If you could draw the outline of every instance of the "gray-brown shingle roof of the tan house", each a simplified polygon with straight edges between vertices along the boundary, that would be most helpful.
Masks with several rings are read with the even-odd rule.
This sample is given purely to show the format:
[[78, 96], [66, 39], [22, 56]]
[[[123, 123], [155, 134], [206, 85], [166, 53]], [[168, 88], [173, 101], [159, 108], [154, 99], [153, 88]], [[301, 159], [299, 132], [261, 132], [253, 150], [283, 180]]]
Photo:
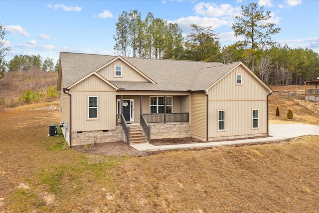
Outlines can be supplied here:
[[[62, 77], [68, 87], [117, 56], [83, 53], [60, 53]], [[222, 64], [215, 62], [184, 61], [123, 57], [157, 84], [148, 82], [111, 81], [125, 90], [187, 91], [205, 90], [240, 62]]]

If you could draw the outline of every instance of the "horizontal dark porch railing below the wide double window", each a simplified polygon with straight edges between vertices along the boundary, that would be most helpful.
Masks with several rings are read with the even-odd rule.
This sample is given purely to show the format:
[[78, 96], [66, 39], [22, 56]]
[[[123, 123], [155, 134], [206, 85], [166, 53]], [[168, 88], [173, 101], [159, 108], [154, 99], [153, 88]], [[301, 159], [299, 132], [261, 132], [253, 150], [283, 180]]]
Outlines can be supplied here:
[[148, 123], [189, 122], [189, 113], [143, 114]]

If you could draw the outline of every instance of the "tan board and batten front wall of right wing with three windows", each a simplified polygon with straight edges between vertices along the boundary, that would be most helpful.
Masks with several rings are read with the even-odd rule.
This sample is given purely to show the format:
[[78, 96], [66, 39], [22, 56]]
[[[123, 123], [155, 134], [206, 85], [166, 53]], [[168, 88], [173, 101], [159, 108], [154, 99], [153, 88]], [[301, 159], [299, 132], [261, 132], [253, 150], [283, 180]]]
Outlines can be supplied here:
[[[242, 84], [236, 84], [237, 74]], [[267, 134], [269, 91], [241, 66], [224, 76], [208, 92], [208, 137]], [[252, 110], [259, 111], [259, 128], [252, 128]], [[225, 130], [218, 130], [218, 110], [225, 110]]]

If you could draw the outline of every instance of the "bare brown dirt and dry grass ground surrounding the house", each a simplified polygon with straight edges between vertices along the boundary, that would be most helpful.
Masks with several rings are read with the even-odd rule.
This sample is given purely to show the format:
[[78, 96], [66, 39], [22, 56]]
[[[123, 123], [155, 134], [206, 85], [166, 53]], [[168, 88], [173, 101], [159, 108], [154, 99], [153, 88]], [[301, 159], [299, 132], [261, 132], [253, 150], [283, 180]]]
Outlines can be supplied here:
[[[317, 103], [308, 104], [270, 97], [271, 122], [319, 125]], [[60, 133], [48, 137], [58, 109], [53, 102], [0, 110], [0, 213], [319, 212], [317, 136], [155, 153], [118, 142], [79, 152]], [[181, 140], [165, 143], [193, 142]]]

